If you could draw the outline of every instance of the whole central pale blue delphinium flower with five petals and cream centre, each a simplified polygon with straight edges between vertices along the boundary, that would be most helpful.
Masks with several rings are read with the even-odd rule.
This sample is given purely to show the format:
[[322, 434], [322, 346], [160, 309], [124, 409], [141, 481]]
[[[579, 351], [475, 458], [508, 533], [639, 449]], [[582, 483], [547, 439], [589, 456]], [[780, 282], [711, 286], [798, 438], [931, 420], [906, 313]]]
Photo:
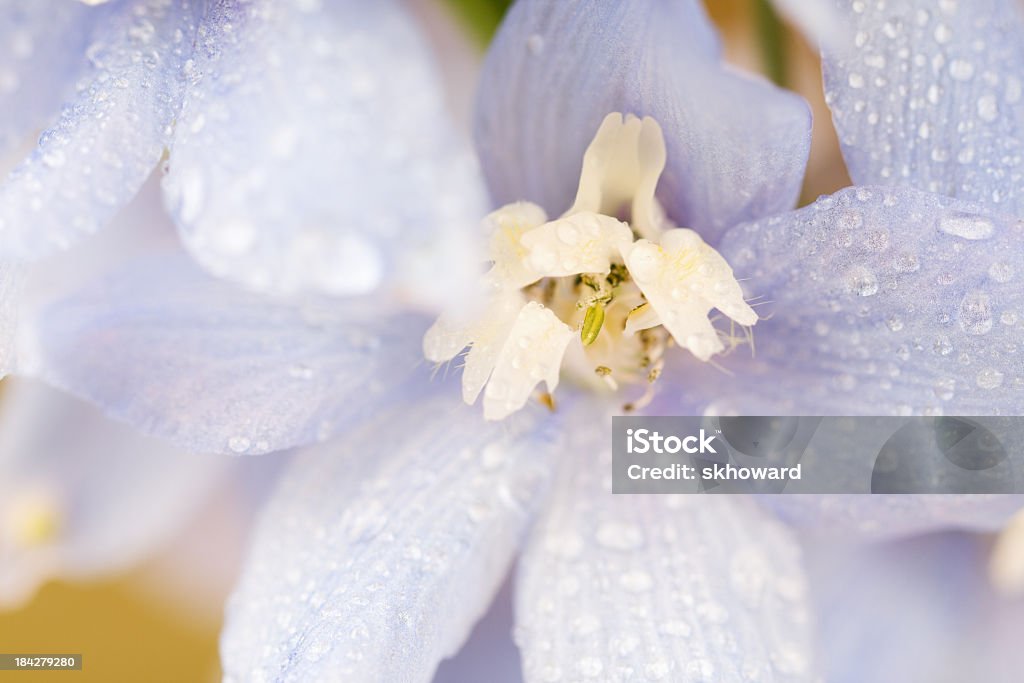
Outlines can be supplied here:
[[[217, 35], [215, 48], [225, 42], [223, 32]], [[529, 279], [566, 279], [556, 283], [554, 298], [542, 292], [535, 303], [566, 304], [559, 324], [581, 325], [584, 357], [585, 344], [626, 349], [611, 354], [611, 365], [591, 367], [590, 358], [583, 366], [581, 374], [591, 383], [597, 378], [601, 392], [612, 389], [606, 380], [630, 375], [624, 370], [647, 383], [656, 358], [635, 366], [620, 360], [635, 353], [633, 344], [654, 351], [643, 342], [653, 335], [660, 346], [671, 339], [681, 348], [664, 356], [650, 411], [1016, 410], [1012, 383], [937, 393], [935, 380], [956, 358], [926, 355], [914, 342], [941, 329], [969, 359], [982, 352], [989, 362], [1012, 362], [1010, 326], [996, 328], [992, 316], [1014, 305], [1016, 290], [1012, 280], [989, 286], [986, 279], [992, 250], [1012, 244], [1015, 219], [895, 186], [852, 188], [771, 216], [792, 206], [799, 188], [806, 108], [723, 68], [696, 5], [582, 9], [520, 2], [492, 48], [483, 84], [477, 142], [492, 194], [499, 204], [540, 207], [518, 205], [488, 223], [511, 228], [513, 238], [521, 231], [525, 250], [523, 258], [503, 261], [502, 248], [516, 255], [516, 241], [499, 240], [493, 279], [528, 286], [532, 280], [514, 272], [527, 266]], [[230, 94], [213, 89], [206, 96], [213, 103], [218, 96], [231, 101]], [[601, 182], [601, 197], [588, 199], [593, 185], [586, 182], [584, 150], [614, 112], [652, 122], [611, 119], [610, 126], [621, 122], [656, 137], [656, 122], [664, 132], [659, 204], [649, 191], [658, 164], [636, 165], [643, 182], [634, 176], [632, 184], [609, 183], [609, 190], [630, 188], [621, 198], [629, 205], [623, 213], [605, 206]], [[631, 160], [659, 156], [647, 156], [656, 147], [640, 154], [641, 147], [626, 146], [628, 154], [612, 156], [615, 163], [604, 169], [609, 176], [630, 175]], [[602, 148], [599, 138], [592, 151], [600, 157]], [[173, 151], [170, 165], [169, 178], [176, 173]], [[582, 204], [572, 202], [578, 186]], [[640, 211], [627, 202], [636, 198]], [[551, 216], [570, 213], [550, 223], [542, 209]], [[230, 224], [215, 215], [215, 225]], [[589, 222], [578, 224], [584, 218]], [[527, 225], [529, 231], [520, 230]], [[589, 273], [549, 262], [540, 249], [555, 246], [550, 238], [560, 239], [565, 225], [610, 234], [595, 241], [603, 256], [591, 271], [603, 278], [590, 279], [595, 287], [584, 282]], [[938, 230], [941, 225], [948, 229]], [[975, 229], [979, 225], [988, 227]], [[970, 239], [979, 232], [986, 239]], [[692, 282], [718, 296], [676, 297], [657, 278], [648, 285], [642, 265], [629, 267], [645, 252], [655, 260], [683, 256], [679, 269], [659, 271], [676, 280], [690, 274], [687, 258], [694, 258]], [[637, 325], [632, 337], [623, 334], [624, 313], [634, 307], [629, 298], [602, 291], [627, 283], [618, 280], [625, 273], [614, 274], [618, 265], [638, 290], [628, 292], [640, 306], [635, 315], [644, 315], [643, 295], [665, 332], [646, 327], [655, 322], [646, 318], [644, 327], [654, 333], [644, 335]], [[741, 325], [756, 322], [730, 268], [735, 278], [750, 279], [743, 283], [749, 296], [771, 302], [771, 317], [766, 311], [755, 328], [757, 356], [744, 357], [739, 348], [720, 361], [732, 376], [706, 362], [728, 347], [706, 327], [712, 306]], [[264, 274], [249, 284], [264, 283]], [[574, 274], [596, 298], [581, 299]], [[572, 295], [559, 299], [559, 286], [573, 288]], [[678, 312], [679, 299], [694, 309], [676, 317], [677, 328], [670, 313]], [[609, 315], [616, 303], [629, 310]], [[598, 326], [600, 313], [590, 311], [601, 304], [605, 321]], [[477, 315], [497, 306], [486, 298], [482, 305], [464, 315], [474, 329], [461, 335], [462, 343], [479, 340]], [[539, 308], [527, 303], [516, 317], [525, 310]], [[435, 332], [447, 328], [440, 325]], [[426, 327], [385, 295], [295, 305], [217, 283], [174, 257], [105, 279], [39, 322], [46, 377], [196, 450], [261, 453], [344, 434], [300, 454], [264, 511], [228, 609], [222, 646], [229, 676], [427, 678], [459, 647], [520, 552], [517, 642], [529, 680], [813, 676], [811, 605], [784, 526], [741, 497], [612, 497], [605, 480], [607, 416], [623, 402], [635, 405], [635, 394], [627, 387], [612, 396], [592, 387], [560, 390], [554, 415], [528, 404], [488, 424], [460, 405], [451, 382], [431, 383], [426, 369], [414, 371]], [[549, 329], [565, 339], [563, 328], [552, 322]], [[1002, 344], [994, 356], [979, 343], [984, 335]], [[636, 337], [639, 342], [631, 341]], [[724, 336], [734, 339], [731, 330]], [[504, 349], [492, 385], [501, 368], [517, 387], [555, 383], [550, 367], [534, 377], [514, 358], [502, 365]], [[555, 355], [561, 359], [544, 354], [548, 366]], [[611, 372], [594, 372], [600, 368]], [[492, 398], [499, 401], [492, 403], [493, 418], [526, 402], [520, 396], [509, 404], [500, 392]], [[486, 399], [485, 393], [485, 412]], [[356, 420], [365, 424], [355, 427]], [[844, 529], [870, 533], [873, 525], [898, 535], [936, 524], [995, 528], [1019, 506], [1012, 498], [871, 499], [820, 506], [817, 514]], [[856, 514], [852, 524], [844, 513]]]

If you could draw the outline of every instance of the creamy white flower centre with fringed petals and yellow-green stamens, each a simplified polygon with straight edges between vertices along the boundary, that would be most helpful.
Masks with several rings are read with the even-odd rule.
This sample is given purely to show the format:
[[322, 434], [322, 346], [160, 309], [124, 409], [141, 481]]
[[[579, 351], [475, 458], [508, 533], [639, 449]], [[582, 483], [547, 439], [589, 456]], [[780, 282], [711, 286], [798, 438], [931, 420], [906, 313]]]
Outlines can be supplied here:
[[[483, 391], [486, 419], [521, 409], [542, 381], [553, 407], [563, 369], [597, 390], [644, 384], [624, 407], [642, 408], [670, 346], [708, 361], [737, 344], [709, 318], [713, 308], [743, 327], [757, 323], [725, 259], [665, 217], [654, 198], [665, 161], [653, 119], [609, 114], [562, 217], [549, 221], [526, 202], [486, 217], [484, 309], [471, 319], [442, 315], [423, 340], [434, 362], [469, 347], [463, 398], [473, 403]], [[616, 218], [626, 214], [629, 222]]]

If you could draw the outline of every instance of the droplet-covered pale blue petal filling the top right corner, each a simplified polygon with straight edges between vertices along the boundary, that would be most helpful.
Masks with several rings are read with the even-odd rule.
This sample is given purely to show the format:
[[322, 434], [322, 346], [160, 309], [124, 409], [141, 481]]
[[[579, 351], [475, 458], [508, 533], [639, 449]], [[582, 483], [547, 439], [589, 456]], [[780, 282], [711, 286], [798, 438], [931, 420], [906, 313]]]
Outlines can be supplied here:
[[843, 2], [825, 98], [854, 182], [1024, 215], [1024, 14], [1017, 0]]

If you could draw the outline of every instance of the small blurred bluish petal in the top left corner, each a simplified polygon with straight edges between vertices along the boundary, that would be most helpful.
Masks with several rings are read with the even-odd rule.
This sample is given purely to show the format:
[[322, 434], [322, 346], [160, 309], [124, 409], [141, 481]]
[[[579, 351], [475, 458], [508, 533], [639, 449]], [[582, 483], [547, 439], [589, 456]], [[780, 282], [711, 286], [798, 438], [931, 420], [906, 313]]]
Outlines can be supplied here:
[[0, 2], [0, 160], [57, 112], [74, 84], [92, 20], [80, 2]]

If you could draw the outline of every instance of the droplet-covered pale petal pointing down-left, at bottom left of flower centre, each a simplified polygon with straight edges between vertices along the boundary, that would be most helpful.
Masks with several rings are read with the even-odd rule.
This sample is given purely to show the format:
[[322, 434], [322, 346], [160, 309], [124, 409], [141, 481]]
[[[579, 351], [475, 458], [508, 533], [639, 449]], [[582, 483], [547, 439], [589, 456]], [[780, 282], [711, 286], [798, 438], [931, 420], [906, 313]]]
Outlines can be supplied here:
[[542, 500], [555, 430], [535, 418], [487, 425], [442, 387], [303, 454], [228, 603], [228, 679], [429, 680]]

